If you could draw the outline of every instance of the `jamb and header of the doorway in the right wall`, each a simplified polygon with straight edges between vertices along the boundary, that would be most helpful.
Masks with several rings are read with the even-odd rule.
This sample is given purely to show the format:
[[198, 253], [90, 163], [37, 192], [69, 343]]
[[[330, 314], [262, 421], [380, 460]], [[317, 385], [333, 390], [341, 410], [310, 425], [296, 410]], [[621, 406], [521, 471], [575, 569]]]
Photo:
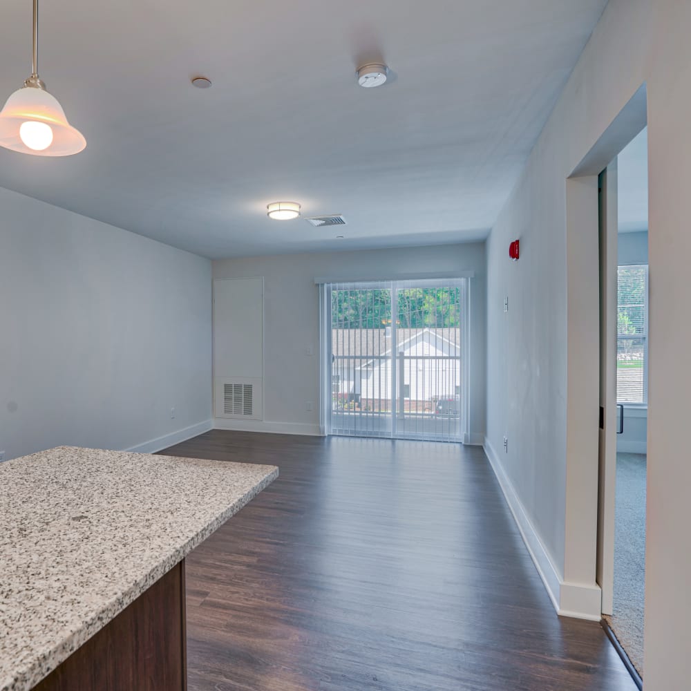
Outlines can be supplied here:
[[647, 122], [645, 84], [567, 178], [567, 436], [562, 614], [599, 620], [596, 582], [599, 498], [600, 338], [598, 175]]

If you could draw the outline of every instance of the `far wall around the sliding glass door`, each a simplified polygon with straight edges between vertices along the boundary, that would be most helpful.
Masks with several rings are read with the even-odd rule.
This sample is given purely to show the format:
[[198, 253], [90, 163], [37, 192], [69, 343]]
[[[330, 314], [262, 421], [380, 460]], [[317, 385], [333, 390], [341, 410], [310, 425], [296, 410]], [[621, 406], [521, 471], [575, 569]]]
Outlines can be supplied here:
[[[372, 279], [474, 271], [471, 279], [471, 440], [485, 429], [484, 243], [363, 252], [286, 254], [214, 261], [214, 278], [264, 277], [263, 424], [244, 428], [319, 433], [319, 289], [315, 277]], [[312, 356], [306, 354], [312, 346]], [[311, 412], [305, 401], [313, 401]], [[229, 421], [216, 421], [233, 428]], [[236, 428], [237, 426], [235, 426]]]

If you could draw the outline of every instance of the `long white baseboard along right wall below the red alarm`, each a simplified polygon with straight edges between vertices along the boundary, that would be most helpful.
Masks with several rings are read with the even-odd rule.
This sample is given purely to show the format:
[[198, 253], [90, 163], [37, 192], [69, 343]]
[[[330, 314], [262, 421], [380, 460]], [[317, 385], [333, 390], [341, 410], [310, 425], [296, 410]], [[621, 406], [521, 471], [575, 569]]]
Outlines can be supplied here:
[[538, 574], [540, 574], [540, 578], [542, 579], [542, 583], [545, 585], [545, 589], [547, 589], [549, 599], [552, 601], [554, 609], [559, 614], [562, 585], [561, 576], [556, 567], [553, 565], [552, 560], [549, 557], [549, 553], [547, 553], [547, 549], [545, 549], [545, 545], [542, 545], [542, 540], [540, 540], [538, 533], [536, 533], [535, 529], [533, 528], [533, 524], [530, 522], [530, 519], [523, 508], [523, 504], [521, 504], [520, 500], [518, 499], [518, 495], [515, 493], [513, 485], [511, 484], [509, 477], [507, 477], [507, 474], [504, 472], [504, 467], [502, 466], [491, 442], [489, 439], [487, 439], [487, 437], [484, 439], [483, 446], [484, 453], [489, 459], [489, 464], [492, 466], [492, 470], [497, 476], [499, 485], [502, 488], [504, 498], [507, 500], [507, 504], [509, 504], [509, 509], [511, 509], [513, 519], [518, 526], [518, 531], [520, 531], [523, 542], [525, 542], [528, 553], [533, 560], [533, 564], [535, 564]]

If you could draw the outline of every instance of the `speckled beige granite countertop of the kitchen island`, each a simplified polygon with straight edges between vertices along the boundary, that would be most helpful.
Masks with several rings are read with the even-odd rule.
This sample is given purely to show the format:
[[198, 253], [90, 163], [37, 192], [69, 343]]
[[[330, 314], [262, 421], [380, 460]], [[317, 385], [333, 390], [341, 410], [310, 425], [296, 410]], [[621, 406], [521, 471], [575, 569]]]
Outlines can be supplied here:
[[32, 688], [276, 477], [70, 446], [0, 464], [0, 691]]

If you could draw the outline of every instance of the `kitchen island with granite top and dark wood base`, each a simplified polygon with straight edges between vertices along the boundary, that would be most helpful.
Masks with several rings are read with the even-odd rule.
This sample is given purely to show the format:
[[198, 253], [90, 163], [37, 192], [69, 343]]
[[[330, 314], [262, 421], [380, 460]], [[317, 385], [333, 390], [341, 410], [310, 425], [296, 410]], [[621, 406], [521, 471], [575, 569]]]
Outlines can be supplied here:
[[0, 691], [184, 690], [184, 557], [276, 477], [70, 446], [0, 464]]

